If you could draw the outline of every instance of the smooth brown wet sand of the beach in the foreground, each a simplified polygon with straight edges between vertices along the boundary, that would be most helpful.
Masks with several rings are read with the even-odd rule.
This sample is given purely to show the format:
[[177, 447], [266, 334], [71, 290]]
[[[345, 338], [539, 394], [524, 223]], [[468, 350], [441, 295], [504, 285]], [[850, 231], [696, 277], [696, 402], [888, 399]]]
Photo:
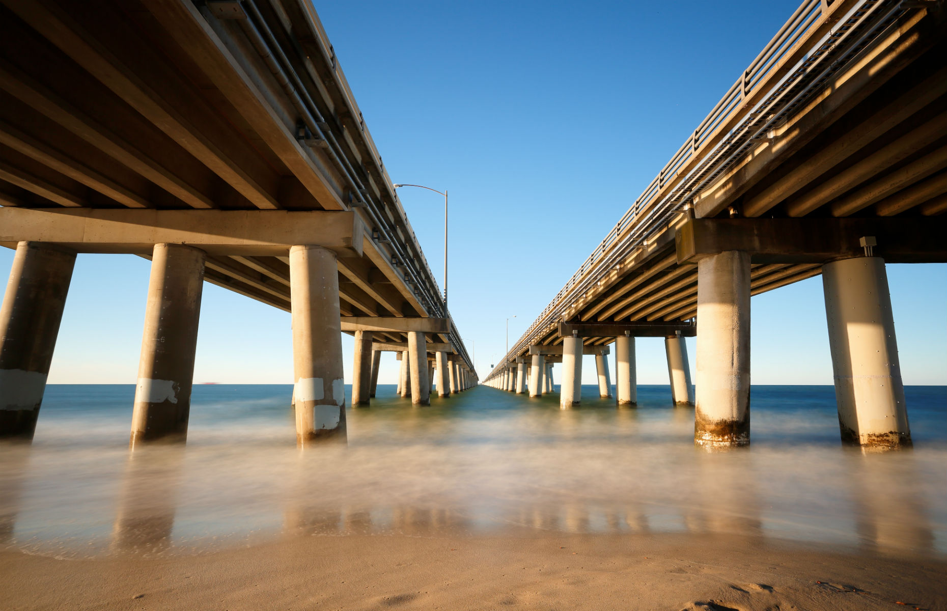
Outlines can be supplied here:
[[694, 534], [302, 535], [83, 560], [0, 551], [4, 609], [947, 609], [947, 563]]

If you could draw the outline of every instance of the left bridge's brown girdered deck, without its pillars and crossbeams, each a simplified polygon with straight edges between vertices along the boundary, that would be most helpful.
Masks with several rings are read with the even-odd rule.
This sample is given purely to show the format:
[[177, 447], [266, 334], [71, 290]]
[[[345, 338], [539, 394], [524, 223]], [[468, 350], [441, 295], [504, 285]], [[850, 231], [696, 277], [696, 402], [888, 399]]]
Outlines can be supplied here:
[[[306, 0], [4, 0], [0, 204], [352, 210], [343, 316], [449, 316]], [[205, 279], [290, 309], [288, 248], [210, 253]], [[436, 341], [470, 363], [456, 333]]]

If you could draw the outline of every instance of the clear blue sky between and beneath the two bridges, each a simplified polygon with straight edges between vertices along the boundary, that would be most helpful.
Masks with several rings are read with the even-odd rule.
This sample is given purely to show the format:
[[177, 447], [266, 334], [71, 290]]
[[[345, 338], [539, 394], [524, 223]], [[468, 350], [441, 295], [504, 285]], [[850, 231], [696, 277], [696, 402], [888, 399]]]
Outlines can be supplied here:
[[[450, 191], [451, 312], [481, 374], [505, 319], [512, 343], [797, 5], [315, 2], [392, 180]], [[441, 281], [442, 200], [400, 194]], [[149, 266], [80, 255], [50, 383], [134, 384]], [[947, 265], [888, 278], [904, 383], [947, 384]], [[753, 297], [751, 318], [755, 384], [831, 384], [821, 278]], [[638, 340], [637, 365], [667, 384], [661, 339]], [[387, 354], [380, 382], [396, 373]], [[289, 314], [205, 284], [195, 382], [292, 376]]]

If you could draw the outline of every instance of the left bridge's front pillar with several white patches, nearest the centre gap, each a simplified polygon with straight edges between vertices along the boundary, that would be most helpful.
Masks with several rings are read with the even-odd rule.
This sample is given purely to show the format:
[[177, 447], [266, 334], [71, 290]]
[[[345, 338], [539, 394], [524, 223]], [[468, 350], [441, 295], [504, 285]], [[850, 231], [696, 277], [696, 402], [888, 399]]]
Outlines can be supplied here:
[[296, 445], [346, 440], [346, 394], [335, 253], [290, 248]]

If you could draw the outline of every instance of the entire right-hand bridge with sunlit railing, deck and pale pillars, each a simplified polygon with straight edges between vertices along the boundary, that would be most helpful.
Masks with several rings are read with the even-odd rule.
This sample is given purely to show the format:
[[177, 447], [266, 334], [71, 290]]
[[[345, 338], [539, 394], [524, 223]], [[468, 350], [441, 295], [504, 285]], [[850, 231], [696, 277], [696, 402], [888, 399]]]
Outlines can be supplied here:
[[803, 2], [485, 384], [542, 395], [561, 355], [567, 409], [595, 353], [610, 397], [612, 345], [616, 403], [634, 404], [634, 338], [664, 336], [695, 442], [745, 445], [750, 297], [821, 274], [842, 439], [910, 445], [884, 265], [947, 261], [944, 10]]

